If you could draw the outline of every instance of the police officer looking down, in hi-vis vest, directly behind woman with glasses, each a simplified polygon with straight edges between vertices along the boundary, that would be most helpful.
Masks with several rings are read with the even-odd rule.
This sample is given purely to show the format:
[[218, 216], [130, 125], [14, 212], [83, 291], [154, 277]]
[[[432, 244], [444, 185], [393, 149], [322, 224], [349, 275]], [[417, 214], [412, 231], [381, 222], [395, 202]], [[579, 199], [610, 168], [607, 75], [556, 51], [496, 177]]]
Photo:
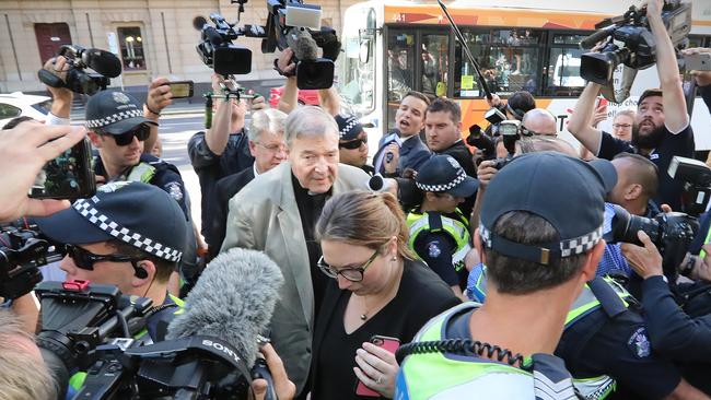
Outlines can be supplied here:
[[458, 204], [471, 197], [478, 181], [451, 155], [433, 155], [415, 178], [422, 203], [407, 215], [408, 246], [463, 297], [468, 275], [464, 258], [471, 250], [468, 219]]

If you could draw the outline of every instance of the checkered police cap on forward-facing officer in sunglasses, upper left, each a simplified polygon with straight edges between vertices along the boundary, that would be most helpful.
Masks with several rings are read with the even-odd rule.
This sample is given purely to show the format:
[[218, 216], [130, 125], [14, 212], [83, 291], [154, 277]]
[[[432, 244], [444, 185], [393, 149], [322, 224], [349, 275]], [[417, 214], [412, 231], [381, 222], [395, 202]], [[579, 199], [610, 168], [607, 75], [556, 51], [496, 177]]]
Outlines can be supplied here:
[[101, 91], [86, 103], [86, 129], [121, 134], [141, 123], [155, 125], [143, 117], [143, 106], [128, 93]]

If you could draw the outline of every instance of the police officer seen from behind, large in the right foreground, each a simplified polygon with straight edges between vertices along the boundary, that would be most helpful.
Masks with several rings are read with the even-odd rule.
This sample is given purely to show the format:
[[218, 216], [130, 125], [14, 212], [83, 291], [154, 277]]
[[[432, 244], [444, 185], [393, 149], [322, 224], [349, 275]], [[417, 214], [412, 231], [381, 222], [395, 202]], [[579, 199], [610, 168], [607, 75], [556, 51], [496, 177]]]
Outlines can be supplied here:
[[605, 193], [615, 180], [609, 162], [552, 152], [502, 168], [483, 197], [474, 240], [488, 267], [487, 302], [451, 308], [398, 350], [406, 357], [395, 398], [575, 398], [552, 353], [604, 251]]

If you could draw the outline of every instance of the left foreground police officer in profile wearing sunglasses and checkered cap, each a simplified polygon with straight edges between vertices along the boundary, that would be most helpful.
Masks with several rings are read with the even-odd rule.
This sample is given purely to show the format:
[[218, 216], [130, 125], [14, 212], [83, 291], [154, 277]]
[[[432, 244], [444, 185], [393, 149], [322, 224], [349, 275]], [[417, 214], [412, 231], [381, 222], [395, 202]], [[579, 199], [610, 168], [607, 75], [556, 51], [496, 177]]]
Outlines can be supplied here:
[[[67, 281], [116, 285], [121, 293], [148, 297], [153, 314], [135, 339], [164, 339], [183, 302], [167, 292], [168, 278], [180, 260], [188, 227], [177, 203], [164, 191], [136, 181], [103, 185], [96, 195], [71, 208], [38, 219], [39, 230], [66, 245], [60, 268]], [[72, 377], [73, 389], [83, 374]]]

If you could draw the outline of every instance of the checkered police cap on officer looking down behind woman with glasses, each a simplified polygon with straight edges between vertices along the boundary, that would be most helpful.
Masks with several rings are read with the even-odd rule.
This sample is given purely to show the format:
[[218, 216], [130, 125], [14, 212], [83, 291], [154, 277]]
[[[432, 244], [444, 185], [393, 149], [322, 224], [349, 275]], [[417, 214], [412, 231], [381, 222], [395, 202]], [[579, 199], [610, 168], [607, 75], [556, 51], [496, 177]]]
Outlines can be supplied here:
[[438, 154], [422, 164], [415, 185], [423, 191], [468, 198], [477, 191], [479, 181], [468, 176], [451, 155]]

